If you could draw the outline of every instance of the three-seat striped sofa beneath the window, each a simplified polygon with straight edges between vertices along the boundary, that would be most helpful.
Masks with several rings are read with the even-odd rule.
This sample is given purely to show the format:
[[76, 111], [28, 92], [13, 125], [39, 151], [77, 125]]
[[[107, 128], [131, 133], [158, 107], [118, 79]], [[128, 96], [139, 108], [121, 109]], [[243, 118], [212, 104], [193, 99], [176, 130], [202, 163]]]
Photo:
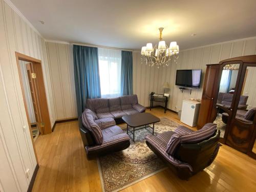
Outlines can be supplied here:
[[111, 99], [87, 99], [87, 109], [94, 112], [95, 119], [113, 118], [122, 122], [122, 116], [145, 112], [146, 108], [138, 103], [137, 95], [126, 95]]

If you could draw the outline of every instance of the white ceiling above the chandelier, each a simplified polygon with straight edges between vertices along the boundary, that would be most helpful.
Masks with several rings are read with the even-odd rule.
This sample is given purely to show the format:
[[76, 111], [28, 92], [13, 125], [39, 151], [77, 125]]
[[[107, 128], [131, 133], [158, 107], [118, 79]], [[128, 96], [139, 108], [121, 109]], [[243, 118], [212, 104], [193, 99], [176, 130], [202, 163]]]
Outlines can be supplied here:
[[[256, 36], [255, 0], [11, 0], [46, 39], [140, 49], [180, 49]], [[43, 20], [42, 25], [39, 20]], [[197, 34], [191, 36], [191, 34]]]

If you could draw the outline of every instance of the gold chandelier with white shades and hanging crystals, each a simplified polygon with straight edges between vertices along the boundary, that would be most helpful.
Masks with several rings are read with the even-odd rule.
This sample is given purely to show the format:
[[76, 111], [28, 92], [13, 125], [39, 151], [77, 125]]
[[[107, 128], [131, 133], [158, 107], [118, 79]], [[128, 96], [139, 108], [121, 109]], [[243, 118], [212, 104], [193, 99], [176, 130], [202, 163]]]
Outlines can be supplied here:
[[153, 48], [152, 43], [149, 42], [146, 44], [146, 46], [141, 48], [141, 62], [144, 61], [146, 65], [157, 66], [157, 68], [161, 66], [168, 66], [172, 57], [177, 63], [179, 58], [179, 46], [177, 45], [176, 41], [172, 41], [168, 47], [162, 38], [162, 31], [163, 28], [159, 28], [160, 38], [158, 47], [155, 45]]

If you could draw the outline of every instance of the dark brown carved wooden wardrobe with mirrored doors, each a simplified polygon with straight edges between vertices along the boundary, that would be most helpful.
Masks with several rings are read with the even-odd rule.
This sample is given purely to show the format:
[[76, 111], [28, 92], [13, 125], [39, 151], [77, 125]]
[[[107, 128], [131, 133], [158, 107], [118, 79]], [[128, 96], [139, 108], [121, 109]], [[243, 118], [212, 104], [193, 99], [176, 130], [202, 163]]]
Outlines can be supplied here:
[[198, 129], [214, 122], [220, 141], [256, 158], [256, 55], [207, 65]]

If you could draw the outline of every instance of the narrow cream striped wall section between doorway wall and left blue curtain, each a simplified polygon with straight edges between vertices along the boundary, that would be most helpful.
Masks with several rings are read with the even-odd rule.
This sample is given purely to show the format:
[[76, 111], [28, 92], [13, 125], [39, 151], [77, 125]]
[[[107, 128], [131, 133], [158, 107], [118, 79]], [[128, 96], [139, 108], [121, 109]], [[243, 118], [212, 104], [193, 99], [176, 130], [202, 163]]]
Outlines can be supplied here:
[[56, 119], [77, 117], [72, 46], [46, 42], [46, 48]]

